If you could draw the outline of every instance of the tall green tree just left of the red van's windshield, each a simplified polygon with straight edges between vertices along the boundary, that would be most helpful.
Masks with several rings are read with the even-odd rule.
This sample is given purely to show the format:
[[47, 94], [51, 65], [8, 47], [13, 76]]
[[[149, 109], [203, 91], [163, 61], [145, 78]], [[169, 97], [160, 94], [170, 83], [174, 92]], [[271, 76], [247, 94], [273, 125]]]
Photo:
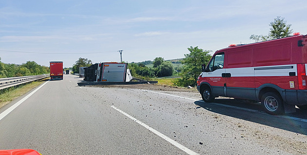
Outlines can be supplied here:
[[199, 49], [198, 46], [188, 48], [190, 54], [185, 54], [182, 64], [185, 64], [182, 70], [181, 78], [175, 82], [178, 86], [195, 86], [197, 78], [201, 73], [201, 65], [208, 64], [212, 52], [211, 50]]

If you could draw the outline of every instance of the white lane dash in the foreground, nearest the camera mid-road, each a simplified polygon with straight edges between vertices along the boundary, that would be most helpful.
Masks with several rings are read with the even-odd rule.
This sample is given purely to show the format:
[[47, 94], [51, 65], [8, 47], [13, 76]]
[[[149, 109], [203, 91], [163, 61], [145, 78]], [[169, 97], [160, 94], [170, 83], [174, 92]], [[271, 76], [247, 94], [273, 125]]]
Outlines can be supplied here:
[[162, 133], [154, 130], [153, 128], [149, 127], [148, 125], [146, 125], [145, 123], [137, 120], [136, 118], [134, 118], [133, 116], [128, 115], [127, 113], [121, 111], [120, 109], [116, 108], [115, 106], [111, 106], [112, 108], [114, 108], [115, 110], [117, 110], [118, 112], [120, 112], [121, 114], [129, 117], [130, 119], [134, 120], [135, 122], [137, 122], [138, 124], [142, 125], [143, 127], [145, 127], [146, 129], [148, 129], [149, 131], [153, 132], [155, 135], [160, 136], [161, 138], [163, 138], [164, 140], [170, 142], [171, 144], [173, 144], [174, 146], [176, 146], [177, 148], [179, 148], [180, 150], [186, 152], [189, 155], [199, 155], [197, 153], [195, 153], [194, 151], [190, 150], [189, 148], [179, 144], [178, 142], [174, 141], [173, 139], [169, 138], [168, 136], [163, 135]]

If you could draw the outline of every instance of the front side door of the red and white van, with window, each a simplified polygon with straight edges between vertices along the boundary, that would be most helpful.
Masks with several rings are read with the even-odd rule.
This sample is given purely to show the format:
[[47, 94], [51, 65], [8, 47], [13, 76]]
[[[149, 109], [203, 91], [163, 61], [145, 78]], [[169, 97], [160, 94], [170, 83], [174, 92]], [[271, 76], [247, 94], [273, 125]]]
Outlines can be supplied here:
[[214, 96], [225, 96], [226, 93], [224, 55], [224, 52], [214, 55], [206, 68], [206, 77]]

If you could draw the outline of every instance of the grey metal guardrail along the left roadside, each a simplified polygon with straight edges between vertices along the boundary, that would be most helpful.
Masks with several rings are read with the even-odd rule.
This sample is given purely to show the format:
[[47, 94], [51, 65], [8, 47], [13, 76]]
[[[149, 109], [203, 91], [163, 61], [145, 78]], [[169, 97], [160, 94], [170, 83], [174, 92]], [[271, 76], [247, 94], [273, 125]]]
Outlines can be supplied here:
[[30, 81], [42, 79], [45, 77], [49, 77], [49, 74], [43, 74], [38, 76], [24, 76], [24, 77], [7, 77], [7, 78], [0, 78], [0, 90], [17, 86], [19, 84], [27, 83]]

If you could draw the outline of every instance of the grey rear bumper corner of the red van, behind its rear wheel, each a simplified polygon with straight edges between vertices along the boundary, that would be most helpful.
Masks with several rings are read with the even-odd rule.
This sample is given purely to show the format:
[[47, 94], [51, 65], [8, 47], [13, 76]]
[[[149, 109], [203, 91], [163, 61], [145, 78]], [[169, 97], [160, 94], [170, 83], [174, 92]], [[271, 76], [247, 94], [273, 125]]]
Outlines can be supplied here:
[[286, 90], [286, 102], [294, 105], [307, 105], [307, 90]]

